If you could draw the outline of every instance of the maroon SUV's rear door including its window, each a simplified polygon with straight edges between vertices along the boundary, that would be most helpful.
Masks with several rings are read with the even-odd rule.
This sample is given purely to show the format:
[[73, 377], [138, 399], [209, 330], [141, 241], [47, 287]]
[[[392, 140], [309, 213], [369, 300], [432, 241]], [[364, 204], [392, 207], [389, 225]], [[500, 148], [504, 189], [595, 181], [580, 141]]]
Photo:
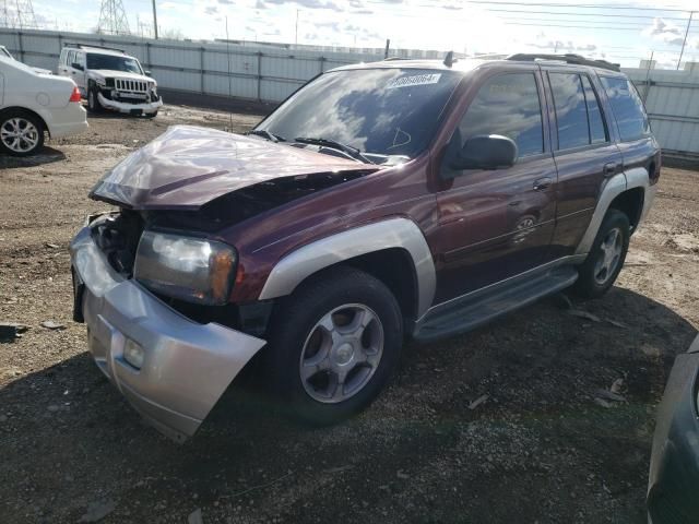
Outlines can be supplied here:
[[552, 108], [552, 143], [558, 168], [556, 233], [552, 255], [573, 254], [605, 179], [624, 170], [607, 129], [597, 78], [570, 68], [543, 67]]

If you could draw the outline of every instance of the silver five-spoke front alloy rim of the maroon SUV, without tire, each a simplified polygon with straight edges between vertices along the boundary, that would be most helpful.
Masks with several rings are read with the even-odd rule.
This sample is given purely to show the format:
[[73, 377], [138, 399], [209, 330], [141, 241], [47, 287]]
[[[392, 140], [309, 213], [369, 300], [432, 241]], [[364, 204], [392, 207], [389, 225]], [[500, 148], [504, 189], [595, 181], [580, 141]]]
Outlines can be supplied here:
[[362, 303], [347, 303], [325, 313], [310, 331], [299, 360], [308, 395], [337, 404], [362, 391], [383, 355], [383, 325]]

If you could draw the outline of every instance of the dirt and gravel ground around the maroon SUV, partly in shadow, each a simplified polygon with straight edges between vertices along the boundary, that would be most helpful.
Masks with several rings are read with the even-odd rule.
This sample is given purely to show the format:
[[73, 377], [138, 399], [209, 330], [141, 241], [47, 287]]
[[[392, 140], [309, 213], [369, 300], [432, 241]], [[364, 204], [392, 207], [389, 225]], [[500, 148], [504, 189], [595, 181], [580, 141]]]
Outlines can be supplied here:
[[[240, 388], [181, 446], [142, 424], [71, 321], [68, 242], [104, 207], [86, 198], [94, 182], [167, 126], [258, 120], [168, 106], [154, 120], [91, 118], [33, 160], [0, 157], [0, 321], [28, 326], [0, 344], [0, 521], [644, 523], [654, 409], [699, 326], [687, 170], [663, 170], [606, 297], [572, 311], [554, 297], [410, 344], [388, 390], [344, 425], [293, 426]], [[599, 398], [613, 384], [625, 402]]]

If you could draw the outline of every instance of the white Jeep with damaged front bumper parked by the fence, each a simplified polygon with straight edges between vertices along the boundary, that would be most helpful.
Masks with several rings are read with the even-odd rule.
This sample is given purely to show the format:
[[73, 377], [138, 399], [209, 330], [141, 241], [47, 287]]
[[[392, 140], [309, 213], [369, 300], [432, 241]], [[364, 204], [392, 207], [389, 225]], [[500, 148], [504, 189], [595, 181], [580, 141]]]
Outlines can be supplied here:
[[153, 118], [163, 105], [157, 82], [137, 58], [120, 49], [67, 44], [58, 74], [73, 79], [93, 114], [110, 109]]

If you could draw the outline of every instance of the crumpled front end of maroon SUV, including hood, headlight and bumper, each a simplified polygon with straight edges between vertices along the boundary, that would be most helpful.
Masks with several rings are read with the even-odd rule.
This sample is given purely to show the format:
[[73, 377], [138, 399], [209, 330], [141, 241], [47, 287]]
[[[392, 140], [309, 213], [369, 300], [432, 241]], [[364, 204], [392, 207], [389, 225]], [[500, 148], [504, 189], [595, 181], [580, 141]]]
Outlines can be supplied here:
[[120, 211], [70, 247], [74, 317], [99, 369], [157, 429], [192, 436], [264, 346], [272, 306], [229, 301], [238, 252], [216, 234], [374, 170], [199, 128], [133, 153], [91, 193]]

